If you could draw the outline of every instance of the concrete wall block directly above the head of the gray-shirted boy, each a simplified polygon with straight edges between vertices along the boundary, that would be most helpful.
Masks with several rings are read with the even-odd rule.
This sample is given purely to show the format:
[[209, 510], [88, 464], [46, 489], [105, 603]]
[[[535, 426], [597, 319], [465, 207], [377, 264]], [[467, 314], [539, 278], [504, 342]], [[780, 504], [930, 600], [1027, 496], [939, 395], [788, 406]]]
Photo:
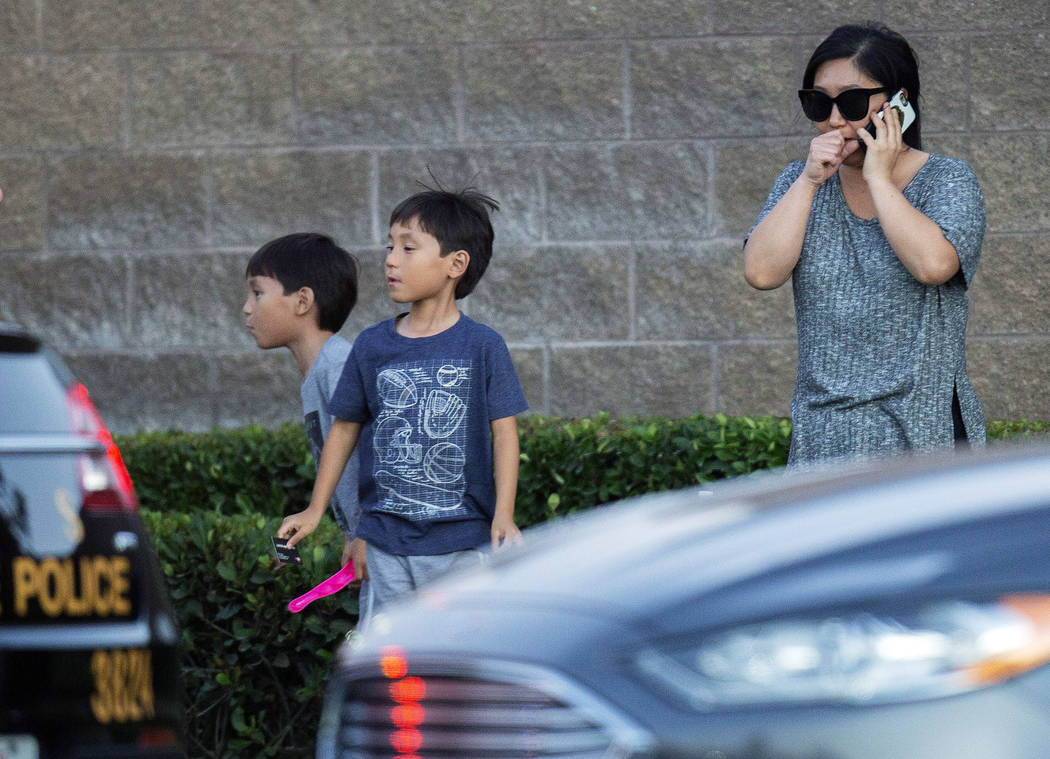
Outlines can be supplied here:
[[255, 249], [280, 235], [313, 231], [343, 247], [374, 243], [368, 153], [220, 153], [212, 176], [216, 245]]

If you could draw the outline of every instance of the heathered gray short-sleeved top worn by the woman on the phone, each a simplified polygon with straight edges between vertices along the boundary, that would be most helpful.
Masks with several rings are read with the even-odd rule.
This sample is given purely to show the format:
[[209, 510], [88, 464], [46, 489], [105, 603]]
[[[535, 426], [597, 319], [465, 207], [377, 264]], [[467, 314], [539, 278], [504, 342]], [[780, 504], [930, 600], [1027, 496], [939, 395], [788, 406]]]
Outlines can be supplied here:
[[[784, 169], [759, 222], [803, 167]], [[878, 219], [849, 210], [838, 174], [814, 198], [792, 275], [798, 328], [792, 465], [950, 448], [953, 393], [967, 439], [984, 443], [984, 409], [966, 375], [965, 347], [984, 196], [965, 162], [932, 154], [904, 196], [959, 254], [961, 271], [944, 284], [911, 276]]]

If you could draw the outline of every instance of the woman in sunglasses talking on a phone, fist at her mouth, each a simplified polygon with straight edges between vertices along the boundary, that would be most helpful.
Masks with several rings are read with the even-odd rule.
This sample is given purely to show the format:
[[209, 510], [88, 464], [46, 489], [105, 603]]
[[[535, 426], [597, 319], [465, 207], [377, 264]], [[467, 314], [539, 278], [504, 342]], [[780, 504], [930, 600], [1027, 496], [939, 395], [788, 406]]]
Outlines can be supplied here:
[[[901, 89], [916, 113], [903, 134], [887, 107]], [[910, 46], [879, 24], [841, 26], [814, 51], [799, 98], [819, 133], [744, 244], [750, 284], [792, 279], [789, 464], [983, 444], [965, 335], [984, 197], [966, 163], [921, 149]]]

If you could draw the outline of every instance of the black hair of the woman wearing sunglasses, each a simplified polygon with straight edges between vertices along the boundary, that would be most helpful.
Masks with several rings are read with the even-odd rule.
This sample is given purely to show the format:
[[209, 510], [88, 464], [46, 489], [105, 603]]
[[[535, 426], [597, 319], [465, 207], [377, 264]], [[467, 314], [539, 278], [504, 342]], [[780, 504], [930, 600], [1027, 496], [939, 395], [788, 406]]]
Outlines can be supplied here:
[[892, 94], [903, 87], [916, 110], [916, 120], [904, 132], [904, 143], [922, 148], [921, 118], [919, 113], [919, 62], [911, 45], [899, 34], [877, 21], [839, 26], [813, 51], [802, 87], [813, 87], [817, 69], [828, 61], [852, 60], [865, 75], [888, 87]]

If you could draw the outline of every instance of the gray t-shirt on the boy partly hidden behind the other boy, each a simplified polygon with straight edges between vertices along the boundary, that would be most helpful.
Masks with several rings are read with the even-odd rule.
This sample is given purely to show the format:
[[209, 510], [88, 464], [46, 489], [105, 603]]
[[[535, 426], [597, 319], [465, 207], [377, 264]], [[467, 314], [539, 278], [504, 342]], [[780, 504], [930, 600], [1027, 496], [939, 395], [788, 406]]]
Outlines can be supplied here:
[[[343, 364], [350, 356], [350, 343], [338, 335], [333, 335], [321, 347], [317, 360], [310, 367], [310, 373], [302, 380], [300, 394], [302, 396], [302, 416], [307, 425], [307, 438], [310, 440], [310, 450], [314, 455], [314, 465], [320, 462], [321, 448], [328, 439], [332, 427], [332, 412], [329, 404], [332, 393], [339, 382]], [[332, 513], [336, 524], [343, 533], [353, 539], [357, 535], [357, 522], [361, 516], [361, 508], [357, 500], [357, 451], [350, 457], [346, 468], [343, 469], [339, 484], [332, 497]]]

